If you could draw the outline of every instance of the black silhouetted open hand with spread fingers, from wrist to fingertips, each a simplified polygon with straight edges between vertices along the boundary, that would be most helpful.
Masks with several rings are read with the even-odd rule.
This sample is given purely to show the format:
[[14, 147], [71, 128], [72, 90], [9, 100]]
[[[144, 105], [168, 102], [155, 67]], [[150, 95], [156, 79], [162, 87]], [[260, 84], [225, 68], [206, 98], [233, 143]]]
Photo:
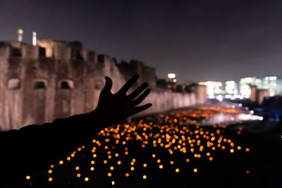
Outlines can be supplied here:
[[152, 104], [137, 106], [145, 99], [149, 92], [151, 92], [150, 89], [146, 89], [148, 86], [147, 82], [141, 84], [140, 87], [135, 89], [131, 94], [126, 95], [128, 89], [133, 86], [138, 78], [139, 75], [134, 75], [118, 92], [116, 92], [116, 94], [112, 94], [111, 86], [113, 82], [111, 81], [111, 78], [105, 77], [106, 84], [100, 93], [97, 108], [93, 111], [95, 115], [99, 115], [99, 119], [105, 125], [118, 123], [119, 121], [128, 118], [130, 115], [145, 111], [152, 106]]

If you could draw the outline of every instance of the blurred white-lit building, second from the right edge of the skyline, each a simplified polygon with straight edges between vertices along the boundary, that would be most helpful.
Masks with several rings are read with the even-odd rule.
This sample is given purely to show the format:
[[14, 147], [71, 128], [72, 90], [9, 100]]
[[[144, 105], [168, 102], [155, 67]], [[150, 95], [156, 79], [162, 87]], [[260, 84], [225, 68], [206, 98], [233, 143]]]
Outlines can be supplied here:
[[251, 94], [250, 85], [256, 85], [262, 88], [262, 80], [257, 77], [243, 77], [240, 79], [240, 94], [243, 97], [249, 97]]

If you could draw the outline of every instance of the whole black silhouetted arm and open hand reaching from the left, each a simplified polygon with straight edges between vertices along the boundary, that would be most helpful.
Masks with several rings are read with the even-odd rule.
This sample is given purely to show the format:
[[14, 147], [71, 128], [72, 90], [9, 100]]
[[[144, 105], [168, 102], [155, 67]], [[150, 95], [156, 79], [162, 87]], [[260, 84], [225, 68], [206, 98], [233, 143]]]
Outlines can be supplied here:
[[150, 92], [146, 89], [147, 82], [126, 95], [138, 77], [131, 77], [116, 94], [111, 93], [111, 79], [105, 77], [106, 84], [100, 93], [97, 108], [90, 113], [0, 132], [0, 185], [10, 184], [20, 177], [47, 168], [90, 141], [105, 127], [152, 106], [137, 106]]

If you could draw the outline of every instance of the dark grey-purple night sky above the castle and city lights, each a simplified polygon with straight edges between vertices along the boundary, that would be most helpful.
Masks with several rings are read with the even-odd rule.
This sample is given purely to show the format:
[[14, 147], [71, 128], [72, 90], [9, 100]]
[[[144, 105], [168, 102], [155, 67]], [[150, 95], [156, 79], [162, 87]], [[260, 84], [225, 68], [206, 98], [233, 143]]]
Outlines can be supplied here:
[[282, 1], [0, 1], [0, 41], [78, 40], [183, 82], [282, 75]]

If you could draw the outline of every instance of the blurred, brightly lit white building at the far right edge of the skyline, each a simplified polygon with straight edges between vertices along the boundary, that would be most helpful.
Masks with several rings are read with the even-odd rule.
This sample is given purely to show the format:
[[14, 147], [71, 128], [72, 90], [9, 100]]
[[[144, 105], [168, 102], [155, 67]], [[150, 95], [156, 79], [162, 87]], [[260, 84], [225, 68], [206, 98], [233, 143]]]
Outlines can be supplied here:
[[269, 90], [269, 95], [282, 95], [282, 79], [276, 76], [267, 76], [262, 79], [262, 89]]

